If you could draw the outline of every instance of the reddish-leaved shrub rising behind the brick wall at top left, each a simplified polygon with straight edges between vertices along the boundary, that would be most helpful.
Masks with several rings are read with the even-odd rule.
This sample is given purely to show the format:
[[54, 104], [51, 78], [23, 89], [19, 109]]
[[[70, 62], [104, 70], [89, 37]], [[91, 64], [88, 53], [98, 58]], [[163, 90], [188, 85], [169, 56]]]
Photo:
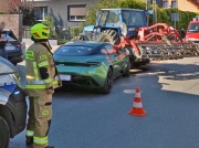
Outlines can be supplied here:
[[33, 0], [11, 0], [8, 3], [8, 12], [9, 14], [22, 14], [23, 25], [32, 25], [34, 23], [34, 6]]

